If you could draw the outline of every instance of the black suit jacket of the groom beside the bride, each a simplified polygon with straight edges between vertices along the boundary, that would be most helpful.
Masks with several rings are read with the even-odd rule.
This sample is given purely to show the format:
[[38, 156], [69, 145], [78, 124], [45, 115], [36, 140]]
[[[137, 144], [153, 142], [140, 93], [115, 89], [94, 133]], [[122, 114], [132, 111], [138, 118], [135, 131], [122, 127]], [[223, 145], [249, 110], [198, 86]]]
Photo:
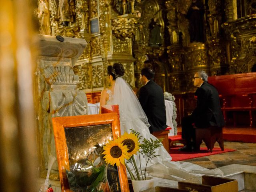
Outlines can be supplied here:
[[148, 117], [150, 132], [166, 129], [166, 111], [162, 88], [154, 81], [150, 80], [146, 85], [140, 88], [139, 101]]

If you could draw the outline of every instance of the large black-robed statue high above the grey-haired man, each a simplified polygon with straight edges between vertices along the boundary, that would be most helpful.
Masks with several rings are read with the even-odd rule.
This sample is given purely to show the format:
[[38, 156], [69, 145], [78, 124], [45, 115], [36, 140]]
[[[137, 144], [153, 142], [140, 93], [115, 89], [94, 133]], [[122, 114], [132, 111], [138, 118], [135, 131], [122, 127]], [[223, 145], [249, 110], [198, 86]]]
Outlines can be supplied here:
[[189, 21], [188, 32], [190, 42], [204, 42], [204, 4], [200, 0], [192, 0], [188, 12], [182, 12]]

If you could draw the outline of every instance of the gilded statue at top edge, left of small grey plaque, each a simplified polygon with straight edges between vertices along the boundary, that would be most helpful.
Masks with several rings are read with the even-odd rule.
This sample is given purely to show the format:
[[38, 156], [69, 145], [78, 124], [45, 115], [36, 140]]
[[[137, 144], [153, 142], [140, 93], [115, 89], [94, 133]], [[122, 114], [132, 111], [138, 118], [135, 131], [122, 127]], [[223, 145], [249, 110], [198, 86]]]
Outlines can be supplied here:
[[60, 0], [58, 15], [63, 26], [68, 26], [69, 22], [74, 22], [76, 16], [74, 0]]

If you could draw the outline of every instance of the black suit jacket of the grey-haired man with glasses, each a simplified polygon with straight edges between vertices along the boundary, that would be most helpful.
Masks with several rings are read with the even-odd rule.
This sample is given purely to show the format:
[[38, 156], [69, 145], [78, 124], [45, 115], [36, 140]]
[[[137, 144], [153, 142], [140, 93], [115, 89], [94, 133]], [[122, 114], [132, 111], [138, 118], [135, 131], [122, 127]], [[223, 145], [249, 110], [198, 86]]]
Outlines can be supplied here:
[[196, 90], [197, 106], [192, 112], [195, 126], [205, 128], [208, 126], [224, 126], [224, 118], [220, 108], [220, 98], [214, 86], [204, 82]]

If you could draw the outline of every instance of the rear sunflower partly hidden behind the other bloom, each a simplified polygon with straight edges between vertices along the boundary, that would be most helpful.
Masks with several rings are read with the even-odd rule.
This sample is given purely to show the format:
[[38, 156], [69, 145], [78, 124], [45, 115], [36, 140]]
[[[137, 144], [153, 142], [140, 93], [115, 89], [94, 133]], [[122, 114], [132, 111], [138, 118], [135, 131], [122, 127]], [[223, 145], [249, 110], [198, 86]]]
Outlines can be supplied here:
[[127, 132], [125, 132], [120, 138], [118, 138], [118, 140], [120, 140], [120, 143], [127, 146], [127, 152], [130, 156], [136, 154], [140, 149], [139, 139], [134, 133], [128, 134]]

